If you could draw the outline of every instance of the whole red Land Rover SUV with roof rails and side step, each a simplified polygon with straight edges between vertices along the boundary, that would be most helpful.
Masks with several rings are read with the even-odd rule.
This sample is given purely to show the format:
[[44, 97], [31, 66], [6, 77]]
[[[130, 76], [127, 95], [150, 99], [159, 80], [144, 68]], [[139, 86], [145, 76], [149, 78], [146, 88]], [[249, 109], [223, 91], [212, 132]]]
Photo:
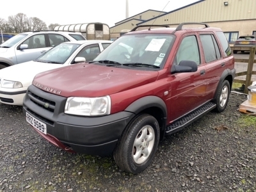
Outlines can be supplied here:
[[236, 70], [221, 29], [153, 27], [137, 26], [89, 63], [37, 74], [27, 122], [67, 152], [113, 153], [122, 170], [140, 173], [164, 136], [224, 111]]

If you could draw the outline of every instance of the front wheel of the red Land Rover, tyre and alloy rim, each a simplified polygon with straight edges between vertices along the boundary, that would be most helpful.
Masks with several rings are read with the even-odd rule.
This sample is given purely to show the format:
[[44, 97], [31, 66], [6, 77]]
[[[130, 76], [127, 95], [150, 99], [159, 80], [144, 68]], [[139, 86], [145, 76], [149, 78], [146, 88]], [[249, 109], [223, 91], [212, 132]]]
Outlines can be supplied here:
[[118, 167], [134, 174], [145, 170], [156, 154], [159, 136], [159, 124], [154, 116], [143, 114], [134, 118], [113, 153]]

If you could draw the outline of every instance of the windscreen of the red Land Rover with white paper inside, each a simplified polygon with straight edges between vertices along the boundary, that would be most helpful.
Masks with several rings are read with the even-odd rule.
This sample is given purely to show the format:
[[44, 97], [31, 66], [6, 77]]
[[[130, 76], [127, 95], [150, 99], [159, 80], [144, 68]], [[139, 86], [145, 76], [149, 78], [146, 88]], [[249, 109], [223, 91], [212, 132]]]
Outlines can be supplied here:
[[169, 34], [123, 35], [93, 61], [108, 60], [130, 67], [143, 64], [145, 67], [162, 68], [173, 40], [174, 36]]

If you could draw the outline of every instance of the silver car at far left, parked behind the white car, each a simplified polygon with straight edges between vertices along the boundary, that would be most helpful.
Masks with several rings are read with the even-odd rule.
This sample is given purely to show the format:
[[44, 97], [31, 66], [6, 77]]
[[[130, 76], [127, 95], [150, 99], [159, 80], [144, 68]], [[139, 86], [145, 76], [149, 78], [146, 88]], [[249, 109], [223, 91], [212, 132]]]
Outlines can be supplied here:
[[45, 51], [61, 44], [85, 40], [81, 33], [65, 31], [33, 31], [20, 33], [0, 45], [0, 69], [35, 60]]

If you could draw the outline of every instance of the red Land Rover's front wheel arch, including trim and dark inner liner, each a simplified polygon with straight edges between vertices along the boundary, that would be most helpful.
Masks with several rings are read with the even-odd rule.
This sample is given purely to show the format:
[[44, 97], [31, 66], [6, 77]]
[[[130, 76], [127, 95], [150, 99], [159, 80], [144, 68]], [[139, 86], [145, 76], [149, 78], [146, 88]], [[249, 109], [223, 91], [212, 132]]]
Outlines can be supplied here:
[[[132, 102], [125, 111], [134, 113], [136, 116], [142, 113], [154, 116], [160, 128], [160, 140], [163, 140], [167, 118], [167, 107], [163, 99], [156, 96], [142, 97]], [[134, 118], [136, 118], [136, 116]]]

